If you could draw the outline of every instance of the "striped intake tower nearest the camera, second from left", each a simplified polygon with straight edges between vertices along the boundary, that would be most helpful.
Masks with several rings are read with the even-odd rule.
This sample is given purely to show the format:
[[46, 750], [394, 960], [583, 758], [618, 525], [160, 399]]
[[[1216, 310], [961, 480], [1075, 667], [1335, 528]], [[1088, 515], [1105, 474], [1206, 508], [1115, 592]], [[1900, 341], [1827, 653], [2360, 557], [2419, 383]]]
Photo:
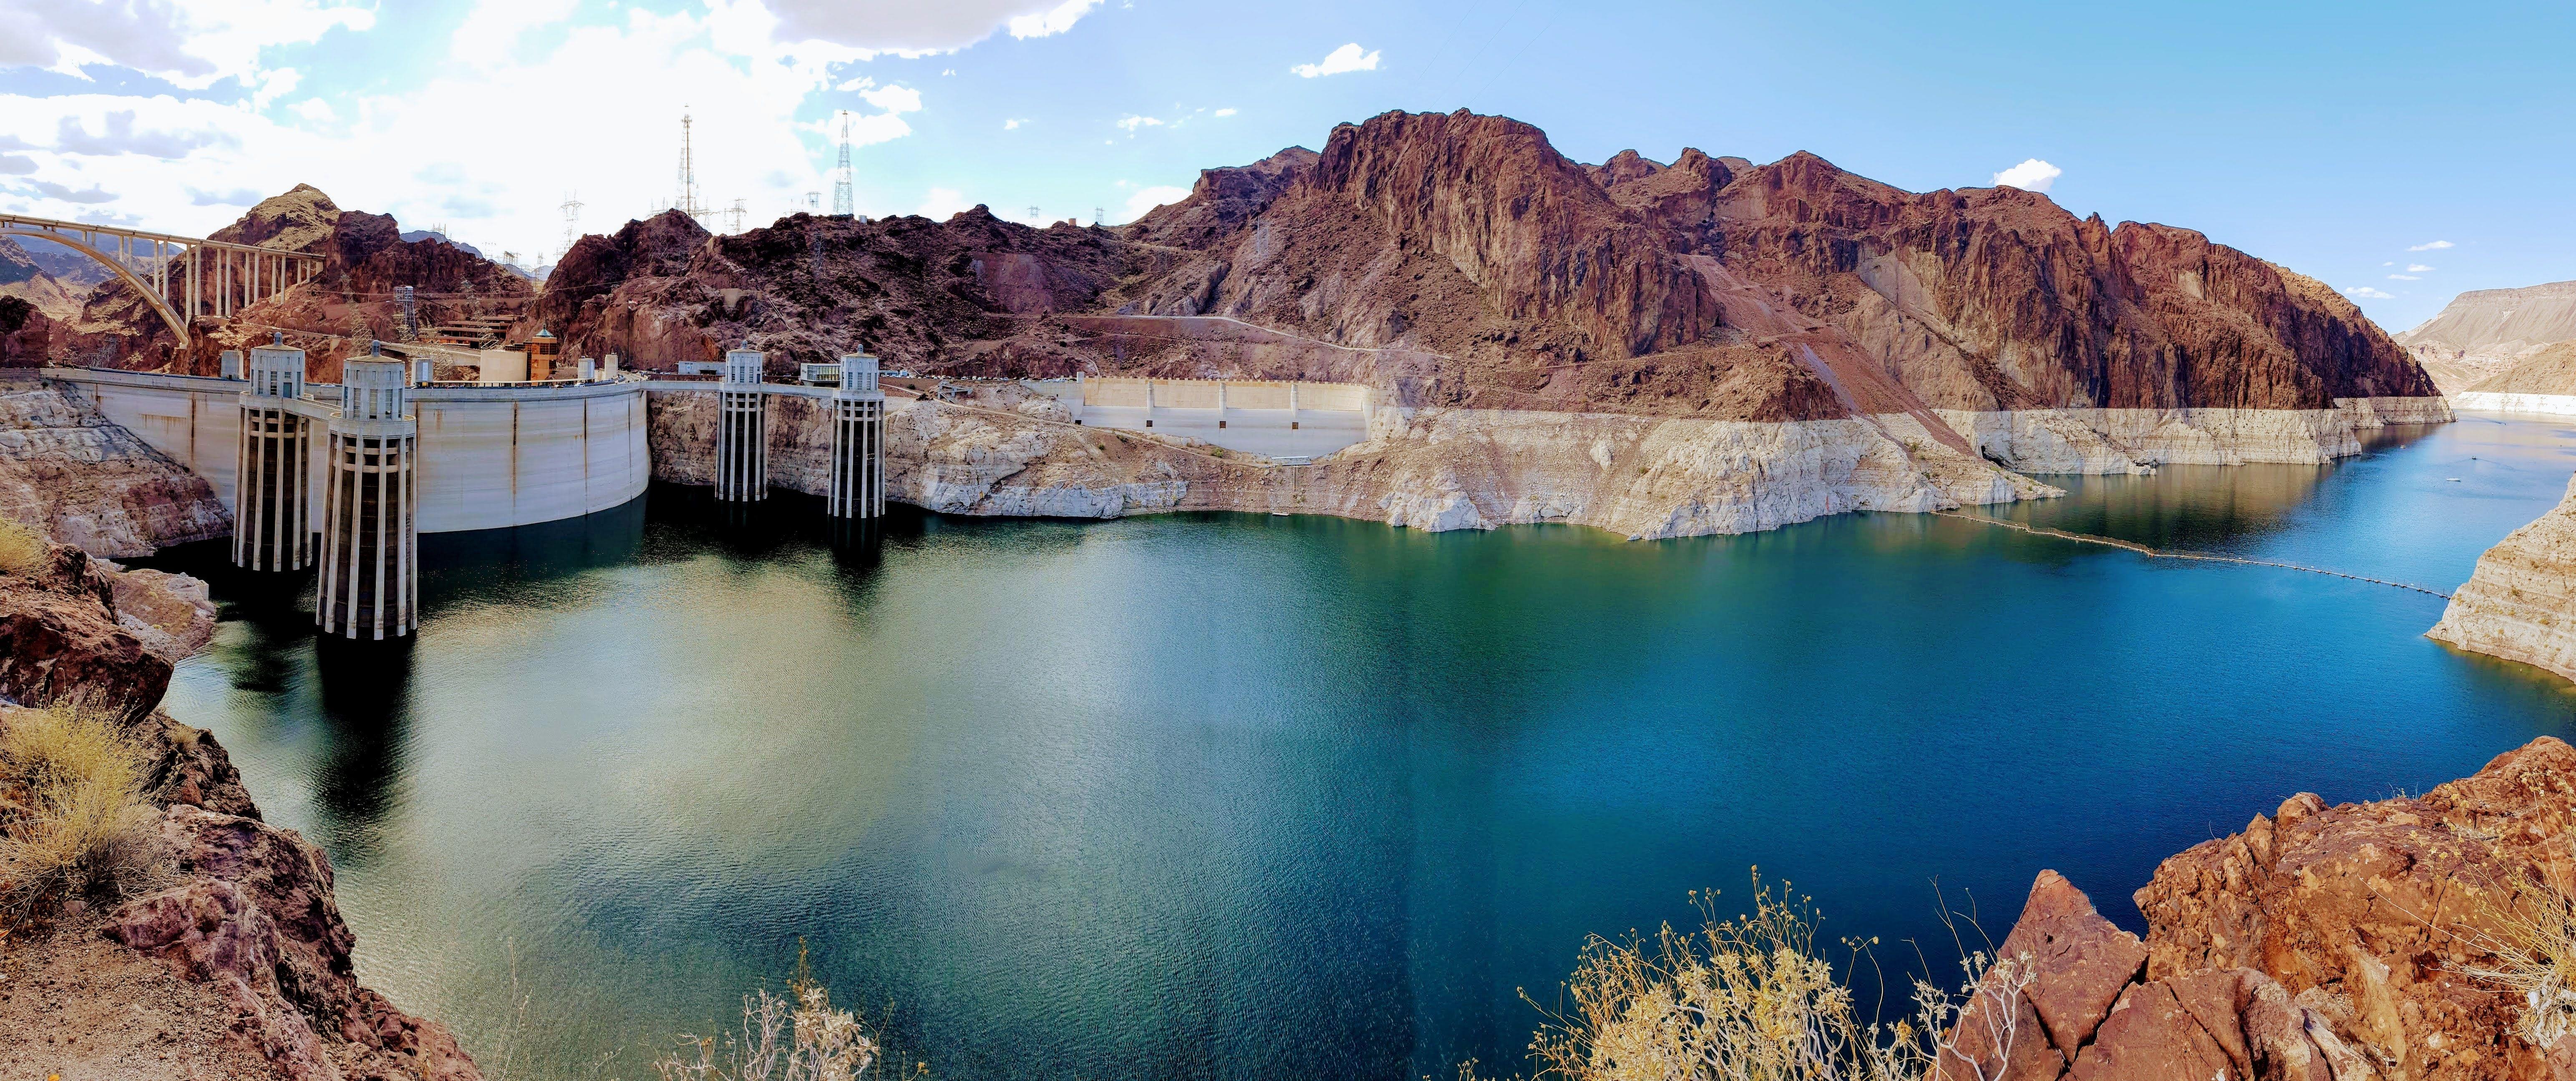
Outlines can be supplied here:
[[386, 358], [340, 365], [314, 592], [325, 636], [384, 641], [420, 628], [420, 422], [407, 368]]

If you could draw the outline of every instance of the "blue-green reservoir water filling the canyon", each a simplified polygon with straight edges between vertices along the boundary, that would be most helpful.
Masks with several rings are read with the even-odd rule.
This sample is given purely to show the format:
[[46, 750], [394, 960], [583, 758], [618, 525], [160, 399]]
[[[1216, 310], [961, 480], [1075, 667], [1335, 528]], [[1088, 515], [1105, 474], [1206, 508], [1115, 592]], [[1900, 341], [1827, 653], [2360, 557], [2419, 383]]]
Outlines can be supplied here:
[[[2450, 589], [2571, 448], [2468, 420], [1999, 515]], [[330, 849], [361, 975], [513, 1078], [647, 1076], [799, 939], [943, 1076], [1510, 1071], [1517, 988], [1752, 865], [1826, 937], [1947, 942], [1935, 880], [1999, 937], [2040, 867], [2138, 927], [2161, 857], [2295, 790], [2421, 790], [2576, 718], [2421, 638], [2437, 597], [1929, 515], [829, 538], [654, 489], [422, 548], [394, 651], [206, 571], [224, 625], [167, 708]]]

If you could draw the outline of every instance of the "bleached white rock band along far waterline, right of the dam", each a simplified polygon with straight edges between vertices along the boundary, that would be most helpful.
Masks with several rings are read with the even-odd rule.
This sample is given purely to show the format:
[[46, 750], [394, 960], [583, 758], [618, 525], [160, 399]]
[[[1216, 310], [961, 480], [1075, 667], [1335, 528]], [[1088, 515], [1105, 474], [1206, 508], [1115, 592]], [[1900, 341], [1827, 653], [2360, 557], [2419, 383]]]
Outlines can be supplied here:
[[[654, 476], [708, 484], [714, 394], [647, 399]], [[822, 494], [822, 409], [770, 404], [770, 481]], [[1574, 522], [1631, 538], [1752, 533], [1847, 510], [2056, 494], [1958, 453], [1911, 417], [1721, 422], [1504, 409], [1381, 412], [1306, 468], [945, 402], [886, 404], [886, 494], [948, 515], [1306, 512], [1419, 530]]]

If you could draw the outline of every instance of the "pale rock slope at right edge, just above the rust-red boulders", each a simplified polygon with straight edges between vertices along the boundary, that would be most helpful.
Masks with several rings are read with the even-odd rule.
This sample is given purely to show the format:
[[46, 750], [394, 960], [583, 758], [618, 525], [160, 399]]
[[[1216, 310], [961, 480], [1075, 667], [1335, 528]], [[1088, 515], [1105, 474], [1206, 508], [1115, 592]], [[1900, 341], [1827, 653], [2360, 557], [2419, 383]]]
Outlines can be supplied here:
[[2424, 636], [2576, 679], [2576, 481], [2558, 507], [2478, 556]]

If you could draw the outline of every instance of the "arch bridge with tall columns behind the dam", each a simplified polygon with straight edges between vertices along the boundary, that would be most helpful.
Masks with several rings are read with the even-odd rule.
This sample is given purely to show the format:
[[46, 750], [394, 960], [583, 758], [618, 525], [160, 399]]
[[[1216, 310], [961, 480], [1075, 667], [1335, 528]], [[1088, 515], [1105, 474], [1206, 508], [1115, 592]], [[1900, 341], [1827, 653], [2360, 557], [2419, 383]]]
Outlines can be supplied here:
[[188, 345], [188, 327], [198, 317], [232, 319], [237, 309], [278, 296], [322, 270], [322, 257], [309, 252], [26, 214], [0, 214], [0, 237], [52, 239], [98, 260], [152, 304], [180, 345]]

